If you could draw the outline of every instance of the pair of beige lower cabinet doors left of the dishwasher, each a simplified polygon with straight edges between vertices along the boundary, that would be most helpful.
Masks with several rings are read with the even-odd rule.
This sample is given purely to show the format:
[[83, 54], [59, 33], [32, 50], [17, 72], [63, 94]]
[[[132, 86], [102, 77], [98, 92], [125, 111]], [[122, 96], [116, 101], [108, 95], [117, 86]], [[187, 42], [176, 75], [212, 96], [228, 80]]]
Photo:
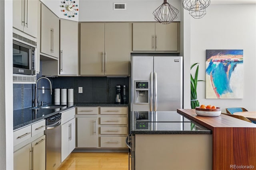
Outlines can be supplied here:
[[14, 170], [45, 170], [45, 135], [14, 152]]

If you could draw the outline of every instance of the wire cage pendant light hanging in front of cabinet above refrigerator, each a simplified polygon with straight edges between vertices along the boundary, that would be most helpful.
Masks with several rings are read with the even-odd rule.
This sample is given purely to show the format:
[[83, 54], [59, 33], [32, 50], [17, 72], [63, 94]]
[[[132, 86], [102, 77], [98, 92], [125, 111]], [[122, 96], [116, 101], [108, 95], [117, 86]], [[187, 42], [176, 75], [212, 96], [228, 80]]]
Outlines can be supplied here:
[[162, 24], [168, 24], [178, 18], [179, 10], [164, 0], [164, 3], [153, 11], [154, 19]]

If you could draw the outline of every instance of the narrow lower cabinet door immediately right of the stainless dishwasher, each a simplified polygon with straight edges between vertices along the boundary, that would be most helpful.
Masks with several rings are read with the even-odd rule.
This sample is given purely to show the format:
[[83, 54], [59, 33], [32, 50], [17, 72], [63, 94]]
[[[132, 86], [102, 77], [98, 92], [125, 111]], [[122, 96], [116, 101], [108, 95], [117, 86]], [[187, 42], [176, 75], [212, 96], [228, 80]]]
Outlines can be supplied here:
[[61, 162], [63, 162], [69, 154], [69, 126], [69, 122], [61, 125]]

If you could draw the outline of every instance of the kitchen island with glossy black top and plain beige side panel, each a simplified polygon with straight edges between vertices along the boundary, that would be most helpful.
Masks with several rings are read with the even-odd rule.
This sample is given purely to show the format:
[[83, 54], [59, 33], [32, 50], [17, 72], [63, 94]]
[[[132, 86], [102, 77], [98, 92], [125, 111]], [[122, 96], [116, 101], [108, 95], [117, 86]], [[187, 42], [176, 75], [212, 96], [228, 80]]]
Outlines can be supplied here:
[[132, 170], [212, 169], [212, 131], [177, 111], [131, 111], [130, 136]]

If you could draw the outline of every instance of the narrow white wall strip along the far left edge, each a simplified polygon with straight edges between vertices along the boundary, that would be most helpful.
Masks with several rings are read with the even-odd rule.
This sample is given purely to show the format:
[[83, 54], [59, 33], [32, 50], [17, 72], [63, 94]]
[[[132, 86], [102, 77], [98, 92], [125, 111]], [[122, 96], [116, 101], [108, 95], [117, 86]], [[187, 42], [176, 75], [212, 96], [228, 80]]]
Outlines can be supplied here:
[[12, 1], [0, 5], [0, 170], [13, 169]]

